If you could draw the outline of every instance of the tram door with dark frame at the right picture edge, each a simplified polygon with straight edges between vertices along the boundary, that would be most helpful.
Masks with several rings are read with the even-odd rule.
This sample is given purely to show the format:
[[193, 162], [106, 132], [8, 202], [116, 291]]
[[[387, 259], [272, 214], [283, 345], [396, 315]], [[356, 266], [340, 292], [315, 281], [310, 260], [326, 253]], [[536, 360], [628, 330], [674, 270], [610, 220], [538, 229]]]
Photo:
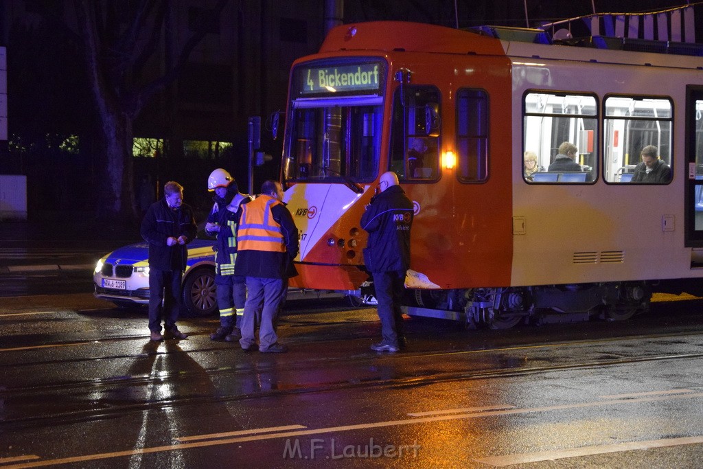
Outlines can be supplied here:
[[[685, 245], [703, 248], [703, 86], [686, 88]], [[701, 257], [701, 258], [698, 258]], [[703, 266], [703, 255], [694, 256], [692, 265]]]

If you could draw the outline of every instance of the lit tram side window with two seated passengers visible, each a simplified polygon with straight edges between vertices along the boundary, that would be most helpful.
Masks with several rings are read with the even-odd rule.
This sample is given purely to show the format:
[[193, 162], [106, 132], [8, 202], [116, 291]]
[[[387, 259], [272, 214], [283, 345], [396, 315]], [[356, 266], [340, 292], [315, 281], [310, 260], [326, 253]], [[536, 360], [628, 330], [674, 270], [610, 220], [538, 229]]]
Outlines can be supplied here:
[[[591, 94], [524, 96], [522, 174], [528, 184], [578, 184], [598, 174], [598, 103]], [[536, 161], [536, 162], [534, 162]]]

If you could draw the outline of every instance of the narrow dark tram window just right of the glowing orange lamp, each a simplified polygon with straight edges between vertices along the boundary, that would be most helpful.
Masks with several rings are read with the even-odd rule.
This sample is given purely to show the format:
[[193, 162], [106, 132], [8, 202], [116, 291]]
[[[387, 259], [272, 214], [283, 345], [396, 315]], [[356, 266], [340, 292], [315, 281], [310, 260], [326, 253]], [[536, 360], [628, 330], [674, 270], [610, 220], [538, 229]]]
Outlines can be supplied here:
[[456, 151], [458, 178], [481, 182], [488, 178], [488, 94], [482, 89], [456, 93]]

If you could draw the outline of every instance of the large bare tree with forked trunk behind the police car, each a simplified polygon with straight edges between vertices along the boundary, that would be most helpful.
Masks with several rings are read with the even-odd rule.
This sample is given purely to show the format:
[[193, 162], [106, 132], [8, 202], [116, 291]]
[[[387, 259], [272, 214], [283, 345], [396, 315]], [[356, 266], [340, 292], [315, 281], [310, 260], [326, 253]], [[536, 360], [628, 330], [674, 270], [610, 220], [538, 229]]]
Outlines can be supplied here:
[[[132, 125], [155, 93], [179, 76], [195, 46], [205, 37], [228, 0], [203, 10], [193, 33], [179, 51], [169, 40], [174, 2], [169, 0], [75, 0], [79, 42], [85, 53], [91, 94], [98, 115], [98, 155], [103, 162], [100, 187], [103, 216], [136, 219]], [[194, 26], [194, 27], [193, 27]], [[164, 67], [149, 82], [137, 79], [158, 51], [164, 48]]]

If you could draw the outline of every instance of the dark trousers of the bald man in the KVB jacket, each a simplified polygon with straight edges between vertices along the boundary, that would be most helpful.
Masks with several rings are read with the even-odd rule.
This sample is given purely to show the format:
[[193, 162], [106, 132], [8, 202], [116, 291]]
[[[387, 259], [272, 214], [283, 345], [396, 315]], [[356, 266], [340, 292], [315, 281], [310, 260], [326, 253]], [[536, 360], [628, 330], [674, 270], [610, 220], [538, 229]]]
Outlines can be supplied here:
[[373, 288], [378, 300], [383, 342], [398, 347], [403, 337], [403, 314], [400, 310], [405, 290], [405, 271], [373, 272]]

